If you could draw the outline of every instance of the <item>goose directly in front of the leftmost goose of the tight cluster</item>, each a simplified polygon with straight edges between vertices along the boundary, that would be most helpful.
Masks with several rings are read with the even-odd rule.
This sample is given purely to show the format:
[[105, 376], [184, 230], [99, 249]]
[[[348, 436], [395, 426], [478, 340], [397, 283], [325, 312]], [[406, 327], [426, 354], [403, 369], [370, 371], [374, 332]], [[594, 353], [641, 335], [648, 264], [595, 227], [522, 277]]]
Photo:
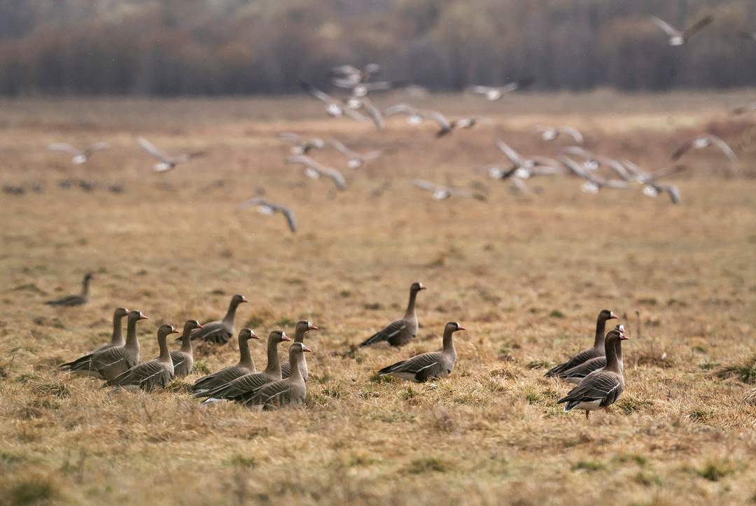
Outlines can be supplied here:
[[126, 320], [126, 342], [122, 346], [84, 355], [80, 359], [66, 364], [67, 371], [87, 374], [103, 380], [110, 380], [139, 362], [139, 340], [137, 339], [137, 322], [146, 320], [141, 311], [129, 311]]

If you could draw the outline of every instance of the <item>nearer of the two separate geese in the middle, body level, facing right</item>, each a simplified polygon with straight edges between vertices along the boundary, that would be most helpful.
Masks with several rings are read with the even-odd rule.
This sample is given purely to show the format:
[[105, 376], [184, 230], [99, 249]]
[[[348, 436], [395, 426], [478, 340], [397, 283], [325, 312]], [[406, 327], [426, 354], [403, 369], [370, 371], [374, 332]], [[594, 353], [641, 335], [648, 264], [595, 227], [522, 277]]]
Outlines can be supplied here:
[[388, 374], [417, 383], [447, 377], [454, 370], [454, 364], [457, 362], [457, 350], [454, 349], [451, 335], [463, 330], [465, 328], [457, 321], [448, 322], [444, 327], [444, 349], [442, 351], [415, 355], [411, 359], [381, 369], [378, 371], [378, 375], [385, 376]]

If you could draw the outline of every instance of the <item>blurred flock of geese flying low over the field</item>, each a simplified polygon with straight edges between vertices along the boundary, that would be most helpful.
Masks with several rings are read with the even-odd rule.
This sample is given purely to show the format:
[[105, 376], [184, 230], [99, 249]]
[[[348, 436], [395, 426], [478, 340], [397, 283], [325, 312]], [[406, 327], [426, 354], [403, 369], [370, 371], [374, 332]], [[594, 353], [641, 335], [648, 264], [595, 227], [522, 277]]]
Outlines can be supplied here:
[[[711, 15], [703, 17], [686, 29], [677, 29], [658, 17], [651, 17], [650, 21], [668, 36], [669, 45], [682, 46], [686, 45], [693, 36], [700, 33], [706, 26], [714, 23], [714, 17]], [[756, 33], [742, 32], [739, 35], [745, 39], [756, 40]], [[329, 116], [347, 118], [359, 123], [370, 123], [377, 130], [385, 129], [386, 119], [392, 116], [402, 116], [407, 123], [414, 126], [432, 123], [435, 126], [436, 138], [444, 138], [457, 130], [472, 129], [480, 123], [491, 123], [484, 116], [469, 115], [451, 118], [441, 111], [426, 110], [406, 102], [393, 104], [382, 109], [373, 100], [374, 93], [404, 88], [417, 95], [418, 87], [407, 86], [400, 82], [377, 80], [376, 76], [379, 76], [381, 72], [382, 69], [378, 64], [367, 64], [361, 68], [353, 65], [342, 65], [331, 69], [330, 79], [334, 89], [347, 94], [343, 98], [324, 92], [302, 80], [299, 80], [299, 85], [324, 104], [325, 112]], [[501, 86], [473, 85], [467, 88], [467, 91], [479, 95], [487, 101], [497, 101], [507, 94], [528, 88], [533, 83], [532, 77], [525, 77]], [[733, 114], [745, 114], [751, 111], [756, 111], [756, 102], [736, 108], [733, 110]], [[672, 203], [680, 203], [682, 200], [679, 188], [676, 185], [662, 182], [662, 178], [685, 170], [686, 167], [683, 165], [676, 164], [649, 171], [641, 169], [636, 163], [626, 158], [593, 153], [582, 147], [584, 135], [572, 126], [539, 125], [534, 127], [533, 133], [544, 142], [566, 139], [568, 141], [566, 144], [572, 145], [561, 147], [559, 156], [552, 158], [538, 155], [524, 156], [504, 141], [497, 140], [495, 145], [503, 154], [501, 163], [478, 166], [474, 169], [476, 172], [487, 174], [494, 180], [510, 182], [513, 191], [523, 193], [529, 192], [526, 182], [531, 178], [562, 175], [572, 176], [581, 181], [581, 191], [587, 194], [596, 194], [605, 189], [640, 189], [648, 197], [666, 194]], [[395, 151], [395, 148], [388, 148], [361, 153], [333, 138], [309, 137], [293, 132], [281, 132], [279, 137], [291, 145], [290, 156], [286, 157], [285, 163], [300, 166], [304, 175], [309, 178], [329, 180], [336, 191], [345, 191], [348, 188], [348, 180], [351, 176], [347, 177], [341, 169], [316, 160], [315, 152], [333, 148], [344, 157], [346, 169], [356, 170], [361, 169], [372, 160]], [[206, 154], [204, 151], [168, 154], [161, 151], [146, 138], [138, 137], [136, 141], [147, 154], [156, 159], [153, 166], [155, 172], [169, 172], [176, 169], [180, 164]], [[84, 148], [65, 143], [48, 145], [51, 151], [62, 151], [70, 154], [71, 161], [75, 164], [86, 163], [95, 153], [104, 151], [108, 147], [107, 142], [98, 142]], [[727, 142], [711, 133], [702, 133], [689, 139], [674, 151], [671, 155], [671, 163], [678, 163], [689, 151], [710, 147], [720, 151], [729, 163], [738, 162], [735, 151]], [[411, 178], [409, 182], [416, 188], [429, 192], [435, 200], [447, 200], [451, 197], [474, 197], [485, 200], [485, 194], [480, 191], [471, 191], [468, 188], [438, 185], [435, 182], [419, 178]], [[471, 186], [485, 187], [480, 182], [473, 182]], [[378, 188], [374, 193], [377, 195], [382, 191], [381, 188]], [[244, 210], [255, 207], [260, 213], [267, 215], [280, 213], [286, 219], [290, 231], [296, 232], [296, 216], [293, 210], [283, 203], [264, 198], [263, 194], [264, 190], [260, 191], [256, 197], [240, 203], [237, 209]]]

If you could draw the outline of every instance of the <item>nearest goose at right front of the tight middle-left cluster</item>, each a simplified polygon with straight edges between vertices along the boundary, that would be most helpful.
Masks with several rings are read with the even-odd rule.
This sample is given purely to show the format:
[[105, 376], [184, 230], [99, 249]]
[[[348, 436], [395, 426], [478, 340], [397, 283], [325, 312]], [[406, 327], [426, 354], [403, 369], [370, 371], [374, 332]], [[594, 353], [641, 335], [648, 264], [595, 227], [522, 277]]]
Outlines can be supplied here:
[[290, 377], [285, 380], [277, 380], [262, 386], [249, 397], [240, 399], [249, 408], [274, 409], [283, 406], [300, 406], [305, 403], [307, 397], [307, 382], [299, 370], [299, 362], [304, 353], [312, 350], [304, 343], [293, 343], [289, 348], [289, 368], [292, 371]]

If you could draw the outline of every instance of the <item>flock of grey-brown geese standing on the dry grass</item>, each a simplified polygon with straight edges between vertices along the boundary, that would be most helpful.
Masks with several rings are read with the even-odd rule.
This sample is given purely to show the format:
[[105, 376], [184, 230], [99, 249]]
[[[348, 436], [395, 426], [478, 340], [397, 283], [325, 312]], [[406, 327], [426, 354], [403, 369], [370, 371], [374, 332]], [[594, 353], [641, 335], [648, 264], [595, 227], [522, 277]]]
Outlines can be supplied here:
[[[87, 302], [90, 274], [85, 275], [82, 293], [49, 301], [55, 306], [80, 306]], [[415, 303], [417, 294], [426, 286], [415, 282], [410, 287], [407, 310], [401, 318], [368, 337], [359, 348], [387, 343], [389, 346], [404, 346], [417, 336], [419, 324]], [[157, 343], [160, 355], [155, 359], [140, 362], [140, 346], [137, 324], [147, 320], [138, 309], [117, 308], [113, 312], [113, 334], [110, 342], [58, 367], [71, 374], [80, 374], [104, 380], [104, 387], [124, 390], [153, 392], [169, 386], [176, 378], [192, 374], [194, 368], [194, 342], [212, 343], [222, 346], [234, 337], [234, 321], [237, 308], [246, 303], [243, 295], [234, 295], [228, 311], [222, 319], [204, 324], [195, 319], [184, 323], [178, 349], [171, 350], [168, 337], [178, 334], [172, 324], [161, 324], [157, 329]], [[122, 320], [126, 318], [126, 335], [123, 337]], [[565, 403], [565, 411], [582, 409], [586, 418], [590, 411], [609, 408], [624, 390], [621, 341], [626, 340], [624, 326], [617, 325], [606, 331], [606, 321], [618, 318], [615, 313], [604, 309], [596, 321], [596, 336], [593, 347], [578, 353], [567, 362], [550, 369], [547, 377], [556, 377], [575, 383], [576, 386], [557, 403]], [[191, 395], [203, 399], [203, 405], [216, 402], [236, 402], [248, 408], [275, 409], [283, 406], [300, 406], [307, 396], [308, 366], [305, 353], [311, 352], [305, 346], [308, 332], [317, 331], [311, 321], [300, 320], [294, 327], [294, 339], [288, 349], [288, 360], [281, 362], [278, 347], [292, 339], [283, 330], [268, 334], [265, 354], [265, 369], [259, 371], [249, 349], [250, 340], [260, 337], [251, 328], [242, 328], [238, 334], [239, 362], [212, 374], [200, 377], [191, 386]], [[425, 383], [441, 380], [454, 371], [457, 350], [453, 335], [466, 330], [459, 322], [449, 321], [444, 326], [442, 350], [414, 355], [407, 360], [396, 362], [376, 372], [376, 376], [392, 376], [401, 380]]]

